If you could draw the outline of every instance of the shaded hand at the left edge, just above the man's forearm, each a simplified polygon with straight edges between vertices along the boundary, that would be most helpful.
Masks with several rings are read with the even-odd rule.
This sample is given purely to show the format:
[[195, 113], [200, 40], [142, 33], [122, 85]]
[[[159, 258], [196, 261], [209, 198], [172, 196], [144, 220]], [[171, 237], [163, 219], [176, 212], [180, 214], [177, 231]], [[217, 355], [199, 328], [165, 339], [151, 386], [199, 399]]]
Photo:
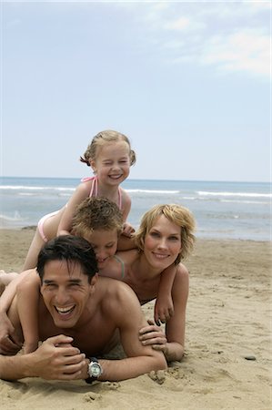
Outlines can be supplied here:
[[0, 354], [14, 355], [21, 350], [23, 343], [15, 334], [15, 328], [6, 313], [0, 313]]

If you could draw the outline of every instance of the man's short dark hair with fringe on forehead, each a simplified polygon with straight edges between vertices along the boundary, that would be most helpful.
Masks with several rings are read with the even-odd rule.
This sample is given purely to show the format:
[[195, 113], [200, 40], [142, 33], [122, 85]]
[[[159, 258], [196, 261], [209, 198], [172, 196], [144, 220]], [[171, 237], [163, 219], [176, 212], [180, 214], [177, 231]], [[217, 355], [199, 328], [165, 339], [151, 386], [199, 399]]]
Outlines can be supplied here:
[[82, 272], [88, 276], [88, 282], [98, 272], [95, 251], [88, 241], [79, 236], [61, 235], [45, 243], [38, 254], [36, 266], [41, 281], [44, 278], [45, 264], [49, 261], [65, 261], [69, 272], [75, 264], [79, 264]]

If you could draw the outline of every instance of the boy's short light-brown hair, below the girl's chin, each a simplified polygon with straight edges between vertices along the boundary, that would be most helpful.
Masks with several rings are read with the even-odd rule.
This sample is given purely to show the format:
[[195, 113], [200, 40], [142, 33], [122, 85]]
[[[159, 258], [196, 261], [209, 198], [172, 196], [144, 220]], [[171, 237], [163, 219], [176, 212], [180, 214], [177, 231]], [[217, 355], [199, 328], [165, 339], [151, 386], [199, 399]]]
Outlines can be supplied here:
[[86, 198], [76, 208], [72, 220], [72, 234], [88, 236], [97, 230], [123, 230], [123, 215], [112, 200], [104, 197]]

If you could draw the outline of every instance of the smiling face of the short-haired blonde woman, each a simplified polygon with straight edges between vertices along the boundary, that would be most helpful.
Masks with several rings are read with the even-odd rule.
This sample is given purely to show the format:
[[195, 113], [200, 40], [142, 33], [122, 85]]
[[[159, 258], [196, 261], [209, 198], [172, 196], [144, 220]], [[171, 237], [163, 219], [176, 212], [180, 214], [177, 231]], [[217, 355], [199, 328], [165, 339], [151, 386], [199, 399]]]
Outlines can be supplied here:
[[181, 251], [180, 227], [160, 215], [151, 230], [146, 233], [144, 252], [154, 268], [164, 271]]

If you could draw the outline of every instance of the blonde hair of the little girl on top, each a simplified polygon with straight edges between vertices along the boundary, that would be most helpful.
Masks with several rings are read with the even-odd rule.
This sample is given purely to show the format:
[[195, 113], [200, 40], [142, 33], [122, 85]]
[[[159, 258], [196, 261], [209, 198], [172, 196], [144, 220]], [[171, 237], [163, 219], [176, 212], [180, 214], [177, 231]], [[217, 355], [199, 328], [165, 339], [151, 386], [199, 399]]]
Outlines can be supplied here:
[[96, 134], [92, 139], [92, 142], [87, 146], [87, 149], [82, 157], [80, 157], [81, 162], [85, 162], [88, 167], [90, 167], [91, 162], [96, 160], [98, 149], [103, 147], [107, 143], [125, 141], [129, 148], [129, 159], [130, 166], [136, 163], [136, 153], [131, 149], [130, 141], [126, 135], [121, 134], [121, 132], [114, 131], [112, 129], [107, 129], [106, 131], [101, 131]]

